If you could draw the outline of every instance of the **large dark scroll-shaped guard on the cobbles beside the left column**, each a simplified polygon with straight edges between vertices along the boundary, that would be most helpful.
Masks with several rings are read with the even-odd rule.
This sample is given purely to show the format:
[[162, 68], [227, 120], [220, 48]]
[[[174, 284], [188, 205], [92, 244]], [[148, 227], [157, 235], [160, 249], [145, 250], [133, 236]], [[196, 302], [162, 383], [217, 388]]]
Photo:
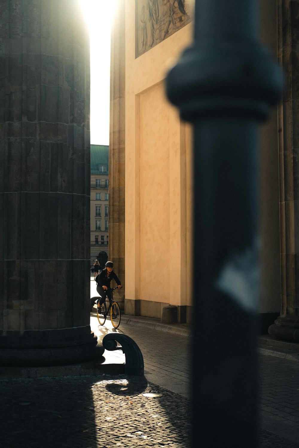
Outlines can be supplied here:
[[[121, 347], [117, 347], [117, 342]], [[136, 342], [129, 336], [121, 333], [108, 333], [103, 338], [103, 347], [106, 350], [122, 350], [126, 357], [125, 373], [127, 375], [143, 375], [144, 363], [141, 350]]]

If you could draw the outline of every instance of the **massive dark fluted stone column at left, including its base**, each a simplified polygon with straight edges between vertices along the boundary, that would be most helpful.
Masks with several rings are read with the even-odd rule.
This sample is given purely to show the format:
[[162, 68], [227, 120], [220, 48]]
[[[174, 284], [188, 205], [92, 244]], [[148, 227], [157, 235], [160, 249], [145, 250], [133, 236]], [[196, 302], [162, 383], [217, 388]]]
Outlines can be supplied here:
[[0, 365], [95, 356], [82, 17], [78, 0], [0, 2]]

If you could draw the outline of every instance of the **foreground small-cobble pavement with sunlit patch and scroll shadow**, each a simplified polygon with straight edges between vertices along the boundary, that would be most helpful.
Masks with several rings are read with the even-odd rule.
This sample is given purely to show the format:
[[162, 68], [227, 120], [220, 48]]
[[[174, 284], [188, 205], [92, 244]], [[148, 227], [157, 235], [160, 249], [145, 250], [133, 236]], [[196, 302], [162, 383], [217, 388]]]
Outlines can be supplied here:
[[4, 380], [0, 395], [2, 448], [188, 447], [188, 400], [144, 378]]

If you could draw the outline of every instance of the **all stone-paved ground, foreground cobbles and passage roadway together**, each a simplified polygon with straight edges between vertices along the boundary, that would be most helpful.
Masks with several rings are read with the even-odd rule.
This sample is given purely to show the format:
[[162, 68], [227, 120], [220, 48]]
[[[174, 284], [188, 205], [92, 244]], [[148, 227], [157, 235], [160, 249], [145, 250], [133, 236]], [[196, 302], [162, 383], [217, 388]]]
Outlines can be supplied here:
[[[113, 331], [93, 317], [91, 327], [100, 340]], [[144, 377], [2, 380], [0, 447], [187, 448], [191, 338], [125, 323], [117, 331], [139, 345]], [[299, 363], [260, 355], [259, 395], [259, 447], [299, 448]]]

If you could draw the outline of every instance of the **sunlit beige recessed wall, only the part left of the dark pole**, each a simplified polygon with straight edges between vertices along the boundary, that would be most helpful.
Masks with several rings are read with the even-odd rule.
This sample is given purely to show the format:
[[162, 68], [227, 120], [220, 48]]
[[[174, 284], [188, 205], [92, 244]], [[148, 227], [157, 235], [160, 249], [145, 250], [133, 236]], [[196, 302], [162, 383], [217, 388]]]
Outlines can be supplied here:
[[134, 17], [127, 1], [126, 299], [160, 317], [162, 305], [191, 305], [191, 129], [165, 98], [164, 80], [193, 24], [135, 59]]

